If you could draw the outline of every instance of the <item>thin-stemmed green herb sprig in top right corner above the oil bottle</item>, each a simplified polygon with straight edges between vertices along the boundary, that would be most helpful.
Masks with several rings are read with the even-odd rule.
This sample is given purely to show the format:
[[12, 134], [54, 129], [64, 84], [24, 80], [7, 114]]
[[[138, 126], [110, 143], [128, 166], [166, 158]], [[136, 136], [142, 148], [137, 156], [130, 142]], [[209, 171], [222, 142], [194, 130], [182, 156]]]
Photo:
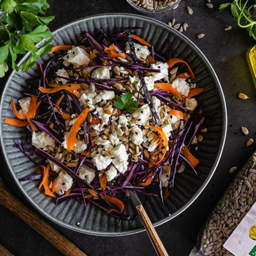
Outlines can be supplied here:
[[[241, 28], [246, 28], [249, 36], [256, 40], [256, 1], [252, 0], [234, 0], [230, 3], [221, 4], [219, 10], [222, 11], [230, 6], [232, 15], [237, 18], [237, 24]], [[254, 14], [253, 14], [254, 12]]]

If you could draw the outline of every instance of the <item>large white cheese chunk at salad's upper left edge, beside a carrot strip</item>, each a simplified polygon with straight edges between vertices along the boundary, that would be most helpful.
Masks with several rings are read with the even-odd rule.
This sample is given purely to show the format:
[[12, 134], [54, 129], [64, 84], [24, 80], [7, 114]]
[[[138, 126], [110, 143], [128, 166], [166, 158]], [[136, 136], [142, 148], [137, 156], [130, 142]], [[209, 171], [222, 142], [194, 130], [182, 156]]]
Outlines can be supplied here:
[[63, 57], [63, 64], [69, 66], [69, 63], [78, 66], [87, 66], [91, 61], [88, 53], [81, 47], [75, 46], [68, 50], [68, 54]]

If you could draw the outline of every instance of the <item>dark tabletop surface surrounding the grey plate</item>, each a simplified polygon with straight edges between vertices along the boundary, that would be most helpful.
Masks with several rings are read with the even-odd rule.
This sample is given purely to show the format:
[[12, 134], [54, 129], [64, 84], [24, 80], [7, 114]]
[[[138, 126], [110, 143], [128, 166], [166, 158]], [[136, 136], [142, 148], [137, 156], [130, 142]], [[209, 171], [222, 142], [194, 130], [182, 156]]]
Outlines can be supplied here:
[[[238, 28], [236, 19], [231, 16], [229, 10], [218, 11], [220, 3], [222, 1], [212, 0], [214, 7], [209, 9], [205, 5], [206, 0], [181, 0], [178, 9], [164, 14], [149, 15], [165, 23], [172, 18], [181, 24], [188, 23], [187, 31], [183, 34], [191, 39], [211, 62], [222, 85], [228, 111], [225, 148], [209, 185], [185, 212], [156, 228], [167, 252], [175, 256], [189, 255], [196, 243], [199, 229], [234, 178], [235, 174], [228, 173], [229, 168], [242, 167], [255, 150], [256, 91], [246, 62], [246, 51], [255, 44], [255, 41], [247, 35], [246, 30]], [[49, 0], [49, 4], [51, 7], [46, 14], [55, 15], [55, 19], [50, 23], [51, 30], [87, 15], [113, 12], [140, 14], [125, 0]], [[192, 15], [187, 13], [187, 5], [193, 9]], [[224, 31], [228, 25], [233, 28]], [[197, 39], [196, 35], [199, 33], [204, 33], [205, 36]], [[6, 78], [0, 79], [1, 90], [5, 81]], [[250, 98], [238, 99], [239, 92], [249, 95]], [[249, 135], [245, 136], [241, 133], [241, 126], [249, 129]], [[255, 142], [252, 146], [245, 147], [246, 140], [250, 137]], [[1, 176], [7, 187], [27, 204], [10, 179], [2, 158], [0, 161]], [[51, 224], [89, 256], [155, 255], [146, 232], [124, 237], [97, 237]], [[0, 244], [14, 255], [61, 255], [25, 222], [2, 206], [0, 206]]]

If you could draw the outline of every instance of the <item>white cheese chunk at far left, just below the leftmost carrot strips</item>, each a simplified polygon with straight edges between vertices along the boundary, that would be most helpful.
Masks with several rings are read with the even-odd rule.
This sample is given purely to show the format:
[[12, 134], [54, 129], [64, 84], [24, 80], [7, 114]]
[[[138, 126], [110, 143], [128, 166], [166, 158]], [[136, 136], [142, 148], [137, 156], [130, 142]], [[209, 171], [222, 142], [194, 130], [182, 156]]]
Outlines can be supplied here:
[[46, 132], [32, 132], [32, 145], [36, 148], [49, 150], [55, 147], [55, 140]]

